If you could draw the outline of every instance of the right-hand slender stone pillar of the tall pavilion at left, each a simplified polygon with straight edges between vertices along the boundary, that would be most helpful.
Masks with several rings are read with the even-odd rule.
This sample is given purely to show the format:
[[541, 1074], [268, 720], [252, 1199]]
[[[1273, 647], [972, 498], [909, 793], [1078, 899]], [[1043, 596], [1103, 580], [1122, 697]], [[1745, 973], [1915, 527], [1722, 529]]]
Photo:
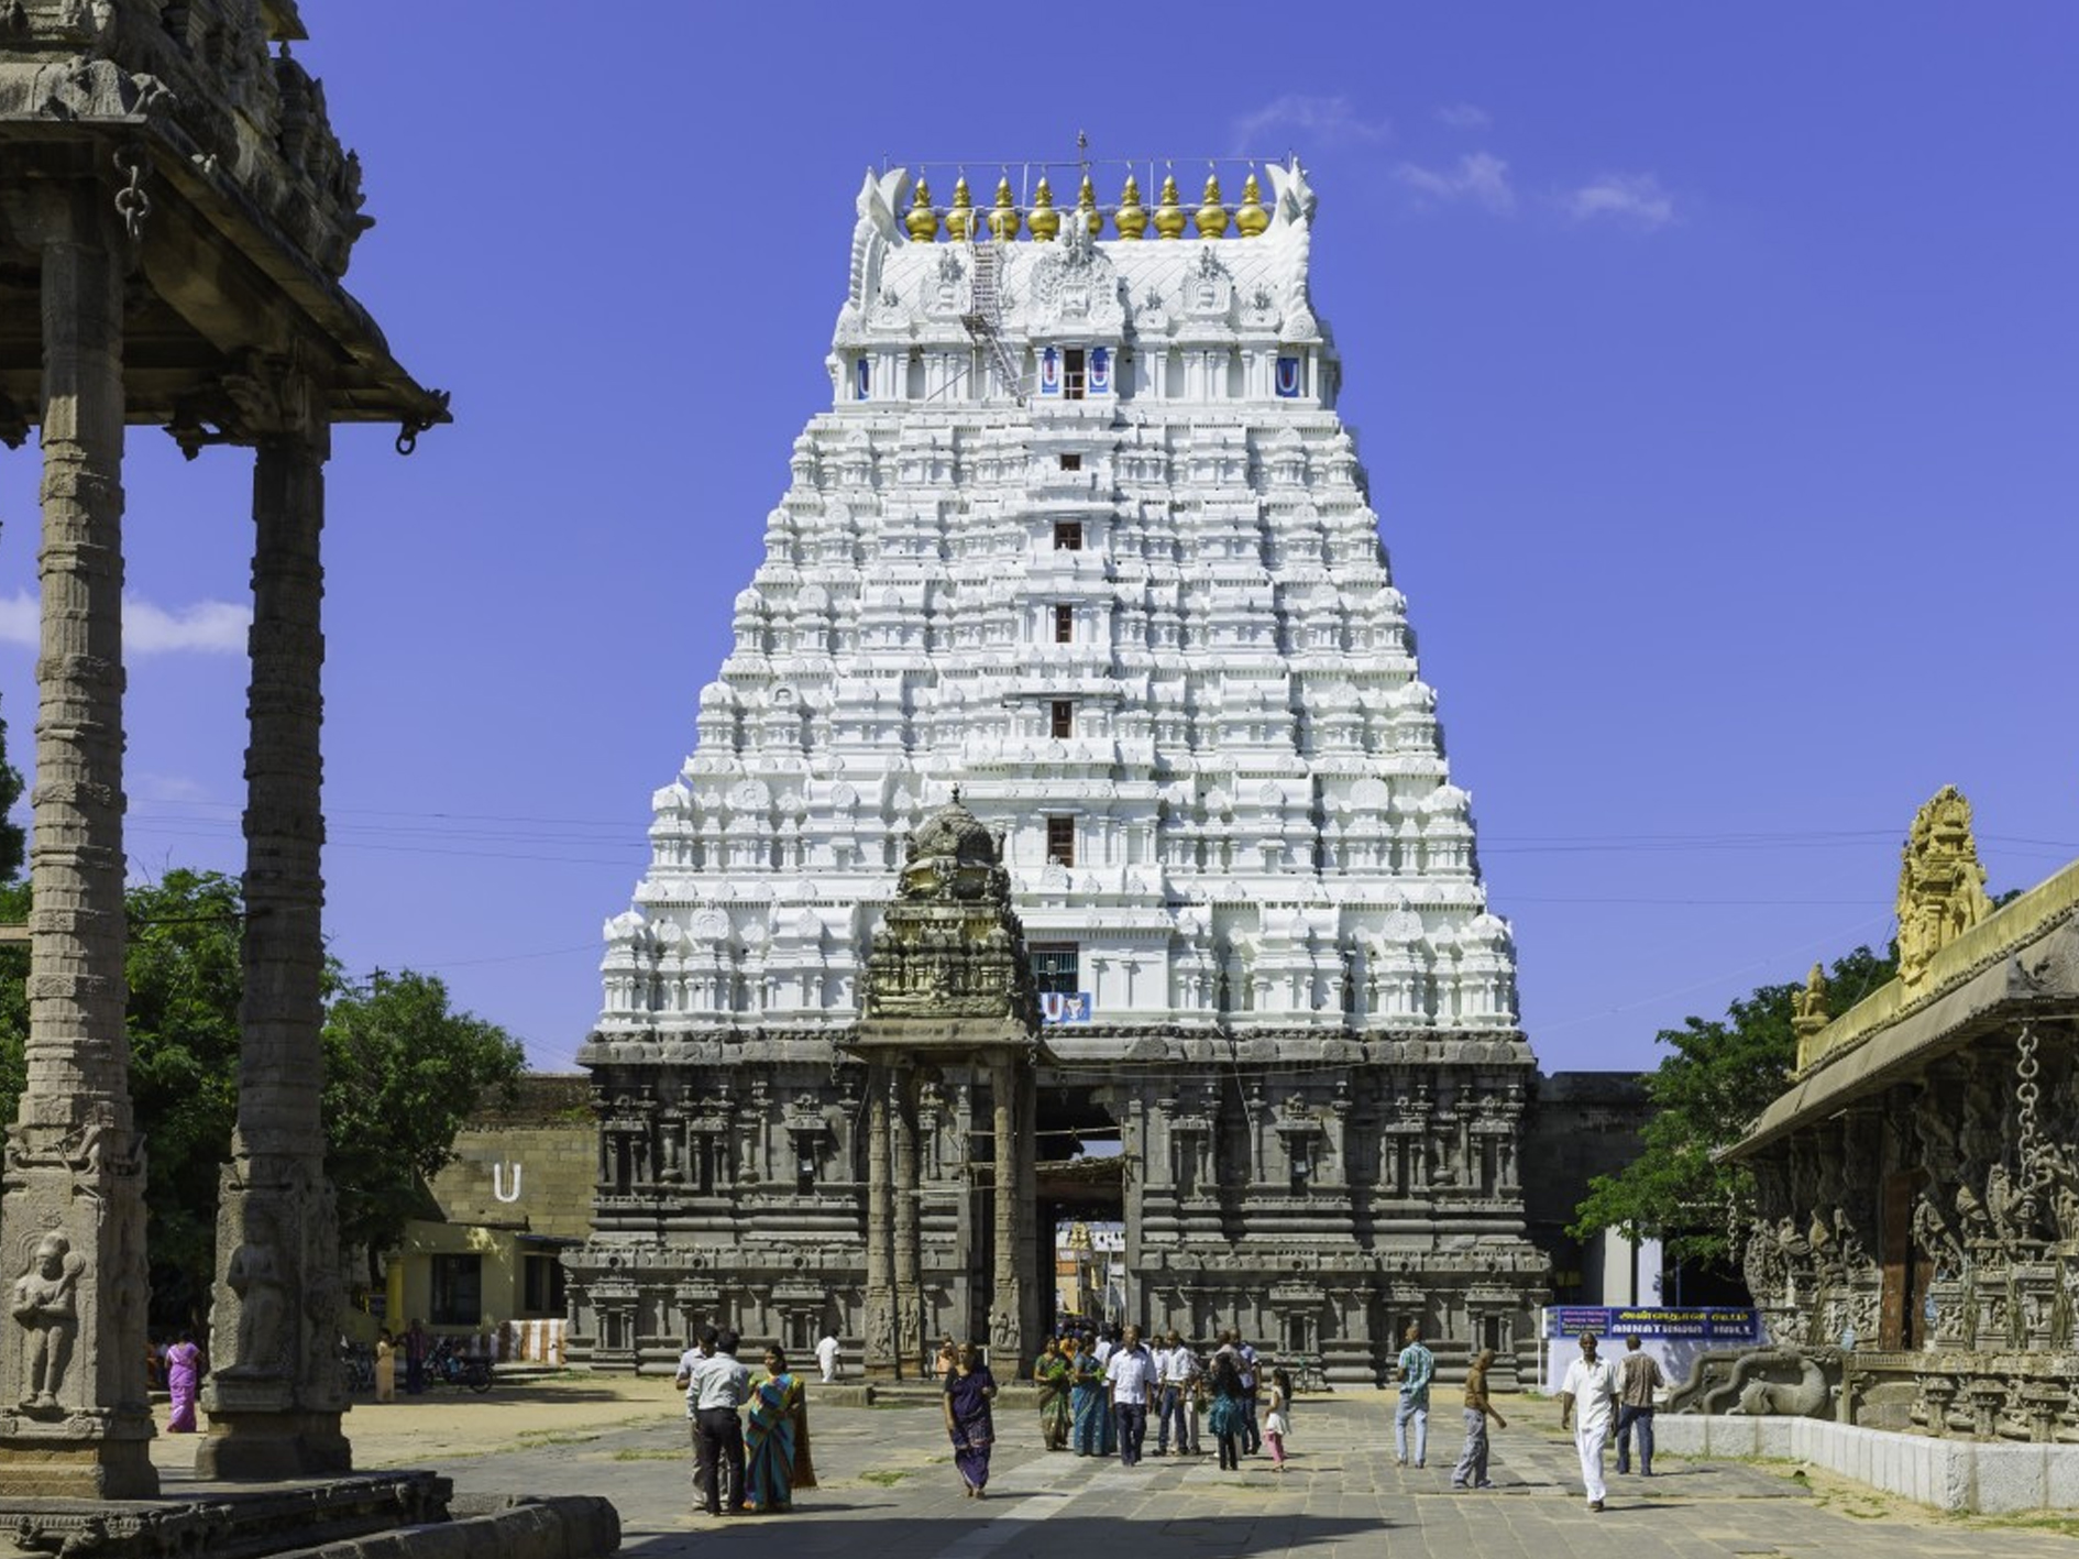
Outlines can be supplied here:
[[347, 1472], [339, 1218], [324, 1179], [318, 673], [324, 663], [322, 387], [283, 362], [227, 385], [254, 466], [254, 626], [245, 748], [239, 1118], [216, 1212], [204, 1478]]

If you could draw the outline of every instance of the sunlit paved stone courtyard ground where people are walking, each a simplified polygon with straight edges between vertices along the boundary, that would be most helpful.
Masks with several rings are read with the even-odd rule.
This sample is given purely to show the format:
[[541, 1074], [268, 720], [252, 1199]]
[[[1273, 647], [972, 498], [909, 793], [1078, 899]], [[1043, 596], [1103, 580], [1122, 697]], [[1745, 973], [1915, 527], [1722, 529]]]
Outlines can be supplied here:
[[[2069, 1536], [1971, 1524], [1782, 1465], [1663, 1459], [1651, 1480], [1611, 1474], [1609, 1509], [1590, 1515], [1572, 1441], [1551, 1403], [1499, 1403], [1493, 1492], [1453, 1492], [1457, 1411], [1428, 1468], [1393, 1465], [1389, 1399], [1301, 1397], [1291, 1470], [1245, 1457], [1139, 1468], [1048, 1455], [1031, 1413], [998, 1413], [990, 1499], [963, 1499], [931, 1407], [817, 1407], [809, 1422], [819, 1488], [792, 1515], [711, 1520], [692, 1511], [684, 1409], [669, 1382], [561, 1378], [499, 1384], [486, 1397], [428, 1395], [349, 1420], [362, 1468], [437, 1465], [470, 1492], [607, 1495], [624, 1553], [638, 1559], [1231, 1559], [1380, 1553], [1393, 1559], [2006, 1559], [2079, 1557]], [[1441, 1416], [1443, 1418], [1443, 1416]], [[1150, 1436], [1152, 1443], [1152, 1436]], [[162, 1436], [166, 1492], [189, 1488], [193, 1441]]]

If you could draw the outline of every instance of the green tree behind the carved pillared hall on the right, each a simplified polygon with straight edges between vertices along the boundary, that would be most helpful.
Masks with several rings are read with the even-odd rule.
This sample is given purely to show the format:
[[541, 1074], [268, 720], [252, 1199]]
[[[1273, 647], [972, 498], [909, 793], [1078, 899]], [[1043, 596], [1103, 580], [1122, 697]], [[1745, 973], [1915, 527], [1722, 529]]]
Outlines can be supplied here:
[[[1846, 954], [1827, 971], [1832, 1010], [1846, 1012], [1896, 969], [1892, 954]], [[1723, 1019], [1661, 1029], [1655, 1041], [1672, 1054], [1647, 1077], [1655, 1112], [1640, 1131], [1638, 1158], [1588, 1183], [1588, 1199], [1568, 1228], [1574, 1239], [1617, 1228], [1632, 1239], [1661, 1239], [1678, 1258], [1730, 1256], [1728, 1206], [1753, 1206], [1753, 1177], [1711, 1154], [1738, 1141], [1788, 1085], [1798, 1052], [1790, 998], [1798, 989], [1802, 981], [1761, 985]]]

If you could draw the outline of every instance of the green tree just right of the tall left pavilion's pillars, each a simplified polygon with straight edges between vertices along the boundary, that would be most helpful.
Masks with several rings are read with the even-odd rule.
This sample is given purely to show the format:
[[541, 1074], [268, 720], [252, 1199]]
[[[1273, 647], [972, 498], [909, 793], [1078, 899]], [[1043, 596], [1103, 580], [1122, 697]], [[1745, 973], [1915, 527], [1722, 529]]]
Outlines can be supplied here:
[[422, 1185], [455, 1156], [455, 1133], [480, 1100], [526, 1071], [526, 1052], [495, 1023], [453, 1012], [432, 975], [380, 969], [343, 989], [324, 1019], [326, 1166], [339, 1237], [374, 1258], [418, 1216]]

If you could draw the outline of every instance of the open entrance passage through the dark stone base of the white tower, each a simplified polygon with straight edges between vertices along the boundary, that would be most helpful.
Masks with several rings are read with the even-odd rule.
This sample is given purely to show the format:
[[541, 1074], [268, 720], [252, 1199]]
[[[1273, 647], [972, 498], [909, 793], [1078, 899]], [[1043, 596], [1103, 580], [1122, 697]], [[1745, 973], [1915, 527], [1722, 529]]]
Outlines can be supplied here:
[[1037, 1218], [1048, 1330], [1127, 1316], [1127, 1160], [1094, 1087], [1040, 1083]]

